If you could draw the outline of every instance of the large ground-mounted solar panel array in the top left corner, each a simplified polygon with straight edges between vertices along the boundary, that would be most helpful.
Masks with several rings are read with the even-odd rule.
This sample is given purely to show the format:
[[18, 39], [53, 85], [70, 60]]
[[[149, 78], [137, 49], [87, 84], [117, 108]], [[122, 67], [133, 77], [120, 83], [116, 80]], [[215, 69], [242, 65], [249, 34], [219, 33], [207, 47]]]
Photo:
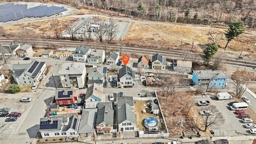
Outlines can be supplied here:
[[20, 20], [26, 17], [52, 16], [65, 10], [67, 9], [58, 6], [36, 6], [28, 8], [26, 4], [2, 4], [0, 5], [0, 22]]

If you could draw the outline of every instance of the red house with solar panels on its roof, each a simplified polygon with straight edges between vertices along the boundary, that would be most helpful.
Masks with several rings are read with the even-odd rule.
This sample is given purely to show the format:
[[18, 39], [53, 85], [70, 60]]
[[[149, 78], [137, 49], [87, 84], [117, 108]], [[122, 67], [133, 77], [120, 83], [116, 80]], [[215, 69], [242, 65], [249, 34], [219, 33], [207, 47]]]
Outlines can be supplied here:
[[78, 90], [64, 89], [55, 91], [55, 100], [57, 104], [74, 104], [78, 97]]

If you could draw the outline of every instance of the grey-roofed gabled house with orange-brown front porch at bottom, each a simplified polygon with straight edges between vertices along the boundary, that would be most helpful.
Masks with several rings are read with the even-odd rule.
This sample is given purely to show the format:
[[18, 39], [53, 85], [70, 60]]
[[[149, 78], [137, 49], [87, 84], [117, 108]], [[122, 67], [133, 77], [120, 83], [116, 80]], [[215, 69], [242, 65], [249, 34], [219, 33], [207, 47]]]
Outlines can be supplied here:
[[96, 117], [96, 133], [112, 134], [114, 125], [114, 110], [112, 102], [99, 102]]

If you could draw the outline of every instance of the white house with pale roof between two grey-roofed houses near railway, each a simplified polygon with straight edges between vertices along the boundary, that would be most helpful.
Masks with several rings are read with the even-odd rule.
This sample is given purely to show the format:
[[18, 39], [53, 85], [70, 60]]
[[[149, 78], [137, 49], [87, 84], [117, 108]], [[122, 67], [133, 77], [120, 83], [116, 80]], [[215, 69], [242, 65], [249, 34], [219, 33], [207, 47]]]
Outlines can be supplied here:
[[105, 50], [91, 49], [87, 62], [91, 64], [102, 64], [105, 61]]

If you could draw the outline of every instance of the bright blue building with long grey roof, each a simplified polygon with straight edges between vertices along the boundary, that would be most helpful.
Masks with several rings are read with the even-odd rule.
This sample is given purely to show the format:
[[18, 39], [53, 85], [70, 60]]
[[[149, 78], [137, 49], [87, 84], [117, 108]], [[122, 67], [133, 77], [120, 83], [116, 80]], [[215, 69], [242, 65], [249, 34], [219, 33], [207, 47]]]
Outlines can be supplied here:
[[194, 70], [192, 80], [198, 86], [225, 88], [228, 76], [222, 70]]

